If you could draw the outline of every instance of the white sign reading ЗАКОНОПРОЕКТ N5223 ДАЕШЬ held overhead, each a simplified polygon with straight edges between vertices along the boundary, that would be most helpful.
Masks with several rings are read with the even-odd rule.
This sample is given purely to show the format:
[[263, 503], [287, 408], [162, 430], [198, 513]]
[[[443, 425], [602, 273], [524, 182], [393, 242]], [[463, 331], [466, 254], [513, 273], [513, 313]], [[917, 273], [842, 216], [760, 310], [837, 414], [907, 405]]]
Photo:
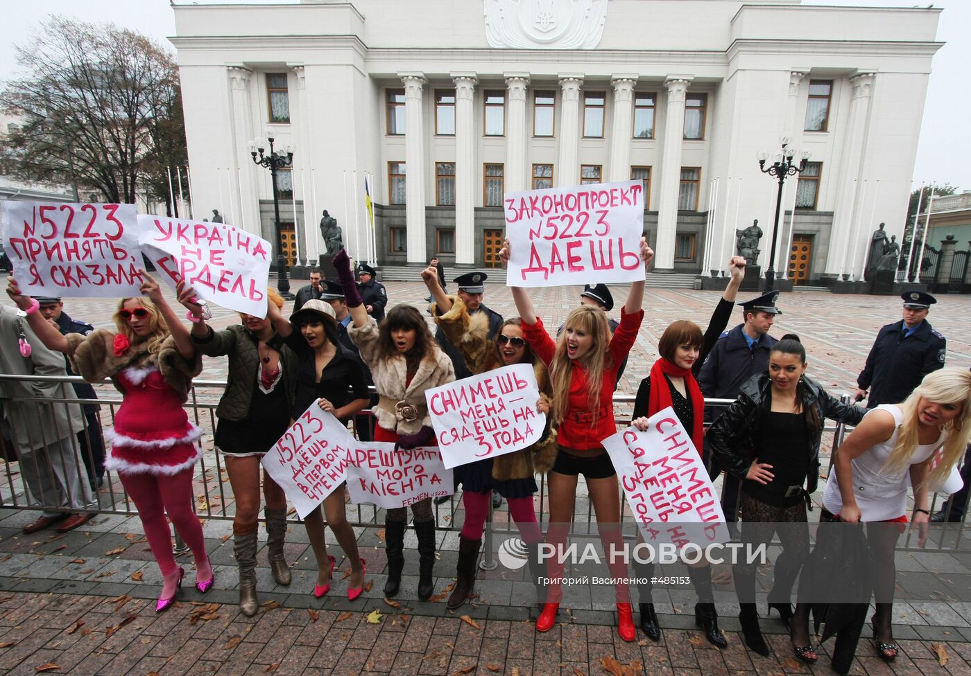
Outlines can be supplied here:
[[644, 280], [644, 183], [506, 193], [509, 286]]

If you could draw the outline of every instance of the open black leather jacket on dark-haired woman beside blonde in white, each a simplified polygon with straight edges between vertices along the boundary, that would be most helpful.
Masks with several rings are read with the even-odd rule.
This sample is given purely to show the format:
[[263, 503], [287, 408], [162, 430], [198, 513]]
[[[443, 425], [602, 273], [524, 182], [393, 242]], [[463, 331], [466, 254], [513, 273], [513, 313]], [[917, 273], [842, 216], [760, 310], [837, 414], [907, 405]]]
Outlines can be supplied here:
[[[866, 409], [852, 403], [842, 403], [829, 396], [820, 384], [812, 378], [802, 377], [802, 405], [816, 406], [820, 422], [824, 418], [838, 420], [847, 425], [857, 425], [863, 419]], [[711, 443], [712, 450], [718, 457], [721, 467], [735, 476], [744, 479], [752, 461], [758, 457], [755, 440], [758, 438], [758, 425], [762, 413], [769, 405], [768, 397], [772, 383], [768, 373], [753, 375], [738, 393], [735, 400], [712, 423], [708, 430], [706, 441]], [[806, 490], [813, 493], [820, 480], [820, 440], [822, 430], [807, 439], [805, 452], [812, 459]]]

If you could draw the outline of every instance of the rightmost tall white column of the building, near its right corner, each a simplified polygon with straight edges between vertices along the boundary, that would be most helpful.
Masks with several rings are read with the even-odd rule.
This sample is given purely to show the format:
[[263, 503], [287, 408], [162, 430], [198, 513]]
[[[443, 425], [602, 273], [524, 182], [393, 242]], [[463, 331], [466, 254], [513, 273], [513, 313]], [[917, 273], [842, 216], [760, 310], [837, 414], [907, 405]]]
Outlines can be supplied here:
[[[833, 225], [829, 231], [829, 251], [826, 255], [825, 275], [829, 277], [843, 275], [842, 278], [847, 279], [851, 269], [855, 273], [861, 270], [861, 265], [855, 265], [850, 259], [850, 250], [853, 248], [856, 205], [863, 197], [856, 188], [863, 183], [863, 146], [875, 77], [872, 73], [864, 73], [850, 80], [853, 84], [853, 98], [850, 100], [850, 116], [846, 125], [843, 160], [840, 163]], [[866, 255], [865, 251], [863, 255]]]

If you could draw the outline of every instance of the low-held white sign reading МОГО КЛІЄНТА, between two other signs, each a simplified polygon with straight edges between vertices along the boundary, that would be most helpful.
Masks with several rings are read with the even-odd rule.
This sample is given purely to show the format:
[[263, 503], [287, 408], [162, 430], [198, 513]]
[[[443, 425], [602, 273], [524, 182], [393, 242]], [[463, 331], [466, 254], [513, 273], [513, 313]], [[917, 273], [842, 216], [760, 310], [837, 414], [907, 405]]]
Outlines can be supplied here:
[[348, 489], [354, 504], [407, 507], [420, 499], [450, 496], [452, 469], [442, 464], [434, 446], [394, 450], [393, 443], [357, 441], [348, 467]]

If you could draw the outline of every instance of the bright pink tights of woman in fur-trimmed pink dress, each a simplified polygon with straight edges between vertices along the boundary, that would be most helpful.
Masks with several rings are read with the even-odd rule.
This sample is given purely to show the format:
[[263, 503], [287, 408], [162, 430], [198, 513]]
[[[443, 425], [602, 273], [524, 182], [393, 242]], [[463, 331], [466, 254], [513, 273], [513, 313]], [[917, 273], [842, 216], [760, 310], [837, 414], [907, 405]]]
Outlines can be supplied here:
[[[184, 469], [172, 476], [162, 474], [119, 472], [121, 485], [138, 507], [138, 515], [149, 540], [151, 554], [165, 577], [172, 577], [176, 570], [176, 558], [172, 554], [172, 534], [169, 519], [192, 550], [196, 567], [209, 567], [206, 543], [202, 537], [202, 524], [192, 511], [192, 472], [195, 467]], [[201, 564], [201, 565], [200, 565]], [[203, 571], [200, 570], [200, 573]], [[202, 574], [207, 579], [207, 574]]]

